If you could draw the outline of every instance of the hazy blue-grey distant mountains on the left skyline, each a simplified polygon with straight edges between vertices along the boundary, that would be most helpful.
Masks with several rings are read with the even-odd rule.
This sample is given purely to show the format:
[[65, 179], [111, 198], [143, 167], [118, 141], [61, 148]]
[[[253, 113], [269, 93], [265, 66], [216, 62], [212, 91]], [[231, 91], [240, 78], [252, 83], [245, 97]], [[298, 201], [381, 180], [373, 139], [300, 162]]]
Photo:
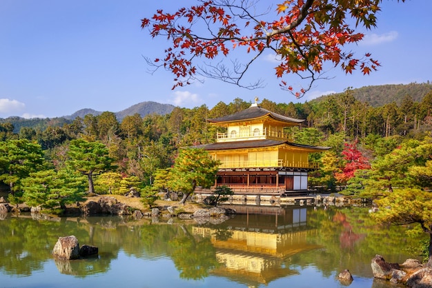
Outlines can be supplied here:
[[[119, 112], [115, 112], [115, 116], [118, 121], [121, 121], [126, 116], [132, 116], [133, 114], [139, 114], [141, 117], [144, 117], [148, 114], [160, 114], [165, 115], [171, 113], [175, 106], [170, 104], [161, 104], [153, 101], [145, 101], [135, 105], [132, 105], [125, 110], [121, 110]], [[81, 109], [75, 112], [72, 115], [63, 116], [63, 118], [73, 120], [77, 117], [84, 118], [87, 114], [92, 114], [93, 116], [98, 116], [102, 114], [100, 111], [92, 110], [92, 109]]]

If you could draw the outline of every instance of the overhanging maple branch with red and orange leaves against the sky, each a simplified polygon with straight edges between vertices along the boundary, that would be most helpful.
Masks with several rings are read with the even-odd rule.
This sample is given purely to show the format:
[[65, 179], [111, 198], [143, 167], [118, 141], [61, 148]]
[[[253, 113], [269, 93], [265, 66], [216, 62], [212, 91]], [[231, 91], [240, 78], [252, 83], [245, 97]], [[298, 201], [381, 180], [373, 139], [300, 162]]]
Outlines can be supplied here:
[[[198, 2], [173, 13], [157, 10], [141, 20], [151, 37], [168, 39], [164, 56], [148, 61], [175, 75], [173, 88], [191, 83], [197, 74], [256, 88], [261, 81], [244, 84], [244, 74], [264, 51], [279, 60], [274, 74], [282, 88], [293, 91], [287, 74], [308, 80], [308, 87], [295, 92], [297, 97], [322, 78], [325, 63], [350, 74], [356, 69], [369, 74], [380, 65], [369, 53], [357, 57], [344, 48], [363, 39], [357, 28], [376, 25], [381, 0], [286, 0], [271, 8], [259, 1]], [[250, 56], [244, 63], [231, 61], [233, 68], [228, 68], [224, 61], [241, 48]], [[210, 62], [199, 66], [198, 59]]]

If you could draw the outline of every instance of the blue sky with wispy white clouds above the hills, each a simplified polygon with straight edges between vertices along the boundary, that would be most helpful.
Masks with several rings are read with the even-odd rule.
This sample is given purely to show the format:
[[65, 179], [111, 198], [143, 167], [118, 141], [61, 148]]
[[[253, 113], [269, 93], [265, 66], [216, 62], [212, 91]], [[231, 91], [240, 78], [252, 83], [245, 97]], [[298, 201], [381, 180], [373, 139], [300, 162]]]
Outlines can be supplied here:
[[[118, 112], [143, 101], [193, 108], [219, 101], [230, 103], [268, 99], [276, 103], [304, 102], [348, 87], [432, 81], [431, 0], [384, 0], [377, 28], [353, 51], [371, 52], [382, 66], [363, 76], [346, 76], [340, 68], [332, 79], [315, 83], [302, 99], [279, 89], [272, 56], [265, 55], [249, 75], [266, 87], [245, 90], [206, 79], [171, 90], [165, 71], [148, 73], [144, 56], [161, 56], [162, 40], [141, 30], [141, 19], [163, 8], [174, 12], [192, 0], [1, 0], [0, 118], [55, 117], [82, 108]], [[270, 3], [270, 2], [268, 2]], [[277, 1], [275, 1], [277, 3]], [[292, 76], [294, 87], [299, 81]]]

